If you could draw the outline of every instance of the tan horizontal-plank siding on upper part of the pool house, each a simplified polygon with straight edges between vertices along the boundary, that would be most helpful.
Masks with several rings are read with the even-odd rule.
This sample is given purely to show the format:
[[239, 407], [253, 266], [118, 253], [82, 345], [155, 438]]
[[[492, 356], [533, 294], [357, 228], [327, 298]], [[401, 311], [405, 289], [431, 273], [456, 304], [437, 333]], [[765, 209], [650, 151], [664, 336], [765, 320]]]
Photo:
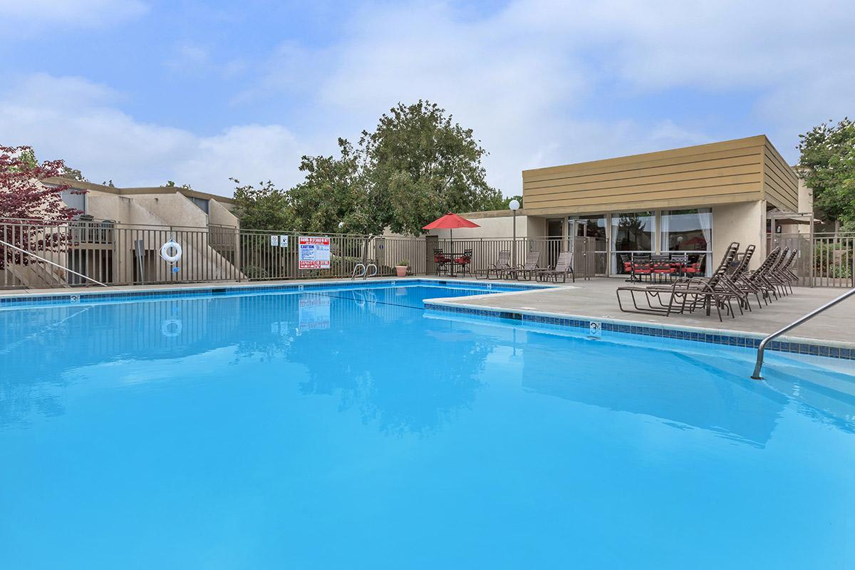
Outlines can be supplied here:
[[[781, 166], [782, 165], [782, 166]], [[522, 173], [528, 214], [798, 205], [798, 181], [764, 135]]]

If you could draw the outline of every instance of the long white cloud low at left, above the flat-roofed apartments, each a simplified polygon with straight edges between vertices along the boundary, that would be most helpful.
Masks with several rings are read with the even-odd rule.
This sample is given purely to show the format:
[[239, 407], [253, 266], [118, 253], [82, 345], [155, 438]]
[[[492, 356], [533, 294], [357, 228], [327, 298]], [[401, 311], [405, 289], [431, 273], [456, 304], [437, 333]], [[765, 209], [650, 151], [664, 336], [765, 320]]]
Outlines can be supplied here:
[[167, 179], [231, 195], [230, 176], [245, 182], [298, 180], [307, 149], [284, 126], [231, 126], [199, 136], [134, 120], [115, 93], [80, 78], [36, 74], [0, 94], [4, 144], [29, 144], [40, 159], [62, 158], [93, 182], [161, 185]]

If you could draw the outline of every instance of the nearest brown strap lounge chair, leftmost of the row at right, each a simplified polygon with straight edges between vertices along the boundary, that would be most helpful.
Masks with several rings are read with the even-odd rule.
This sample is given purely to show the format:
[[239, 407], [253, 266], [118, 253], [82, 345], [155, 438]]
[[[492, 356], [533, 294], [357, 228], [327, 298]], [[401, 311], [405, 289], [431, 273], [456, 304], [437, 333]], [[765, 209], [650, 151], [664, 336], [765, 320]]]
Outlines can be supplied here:
[[[709, 315], [712, 307], [715, 307], [718, 320], [722, 320], [722, 309], [725, 314], [735, 317], [731, 302], [734, 298], [739, 302], [742, 296], [724, 283], [723, 279], [725, 279], [728, 267], [733, 263], [739, 249], [740, 244], [738, 242], [733, 242], [728, 246], [722, 257], [722, 262], [719, 263], [710, 279], [678, 279], [670, 286], [618, 287], [616, 290], [617, 305], [626, 313], [663, 314], [664, 316], [693, 313], [697, 309], [705, 309], [706, 314]], [[621, 299], [622, 292], [628, 292], [633, 303], [633, 309], [624, 308]], [[636, 294], [644, 295], [646, 305], [639, 304]]]

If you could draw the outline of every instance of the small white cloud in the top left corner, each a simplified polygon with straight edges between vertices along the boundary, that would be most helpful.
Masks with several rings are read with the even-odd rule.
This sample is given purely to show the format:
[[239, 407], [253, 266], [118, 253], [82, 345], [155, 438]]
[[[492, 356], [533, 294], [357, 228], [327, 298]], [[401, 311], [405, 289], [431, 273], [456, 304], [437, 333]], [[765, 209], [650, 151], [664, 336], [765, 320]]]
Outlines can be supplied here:
[[143, 15], [140, 0], [0, 0], [0, 32], [26, 36], [51, 26], [95, 28]]

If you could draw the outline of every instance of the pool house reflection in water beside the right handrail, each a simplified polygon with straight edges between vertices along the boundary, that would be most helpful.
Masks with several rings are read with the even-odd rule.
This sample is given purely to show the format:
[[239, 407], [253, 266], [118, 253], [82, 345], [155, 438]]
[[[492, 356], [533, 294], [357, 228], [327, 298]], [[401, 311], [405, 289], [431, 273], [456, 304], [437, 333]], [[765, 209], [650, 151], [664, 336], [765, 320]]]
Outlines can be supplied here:
[[[757, 446], [769, 443], [787, 407], [855, 431], [851, 416], [846, 417], [855, 409], [855, 398], [815, 383], [827, 375], [823, 372], [815, 372], [811, 382], [775, 371], [769, 373], [769, 382], [761, 383], [746, 379], [746, 361], [735, 361], [726, 350], [711, 345], [683, 344], [675, 352], [641, 341], [619, 348], [581, 333], [536, 331], [528, 332], [527, 339], [522, 385], [541, 394], [650, 415], [669, 426], [699, 428]], [[806, 373], [804, 367], [799, 370]], [[796, 383], [800, 390], [791, 390]]]

